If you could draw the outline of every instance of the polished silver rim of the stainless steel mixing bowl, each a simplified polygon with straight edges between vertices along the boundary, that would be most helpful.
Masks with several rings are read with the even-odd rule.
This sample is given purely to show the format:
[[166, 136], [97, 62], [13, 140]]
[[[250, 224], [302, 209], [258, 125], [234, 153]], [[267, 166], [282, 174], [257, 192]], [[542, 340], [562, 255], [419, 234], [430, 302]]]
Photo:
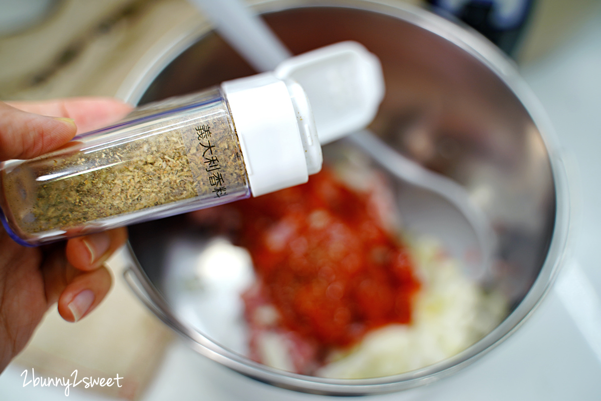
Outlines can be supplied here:
[[[450, 41], [493, 72], [528, 112], [548, 152], [555, 185], [555, 221], [542, 268], [520, 304], [495, 329], [459, 354], [418, 370], [370, 379], [328, 379], [298, 375], [256, 363], [219, 345], [181, 322], [171, 313], [168, 303], [145, 274], [129, 244], [132, 264], [124, 273], [127, 283], [159, 319], [188, 340], [192, 349], [201, 355], [258, 381], [290, 390], [337, 396], [390, 393], [438, 381], [474, 363], [523, 325], [545, 298], [561, 266], [569, 259], [568, 249], [571, 248], [569, 233], [573, 221], [569, 181], [557, 136], [542, 105], [517, 72], [513, 61], [486, 38], [471, 28], [457, 25], [422, 8], [389, 0], [261, 0], [252, 3], [252, 7], [258, 13], [272, 13], [291, 8], [340, 7], [385, 14], [412, 23]], [[172, 35], [167, 40], [171, 41], [168, 45], [166, 45], [167, 41], [162, 41], [157, 46], [151, 47], [147, 56], [136, 64], [124, 80], [117, 96], [130, 103], [138, 103], [150, 82], [153, 82], [178, 55], [207, 34], [210, 28], [207, 21], [201, 20], [194, 28], [186, 28], [188, 32]]]

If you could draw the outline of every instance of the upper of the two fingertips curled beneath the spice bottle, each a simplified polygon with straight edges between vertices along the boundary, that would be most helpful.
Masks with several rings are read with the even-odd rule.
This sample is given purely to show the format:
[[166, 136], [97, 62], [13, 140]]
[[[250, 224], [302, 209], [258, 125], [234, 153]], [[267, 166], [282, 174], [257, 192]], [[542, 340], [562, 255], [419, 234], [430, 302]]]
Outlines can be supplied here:
[[82, 271], [97, 269], [126, 240], [127, 229], [125, 227], [70, 239], [67, 241], [67, 260], [75, 268]]

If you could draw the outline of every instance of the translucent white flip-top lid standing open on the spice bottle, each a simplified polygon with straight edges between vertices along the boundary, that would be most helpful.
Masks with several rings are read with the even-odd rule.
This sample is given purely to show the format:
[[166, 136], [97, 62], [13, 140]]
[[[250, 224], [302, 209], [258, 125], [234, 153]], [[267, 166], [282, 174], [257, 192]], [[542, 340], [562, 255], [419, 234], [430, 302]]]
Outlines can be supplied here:
[[355, 41], [288, 58], [274, 73], [307, 93], [321, 144], [367, 127], [384, 97], [380, 61]]

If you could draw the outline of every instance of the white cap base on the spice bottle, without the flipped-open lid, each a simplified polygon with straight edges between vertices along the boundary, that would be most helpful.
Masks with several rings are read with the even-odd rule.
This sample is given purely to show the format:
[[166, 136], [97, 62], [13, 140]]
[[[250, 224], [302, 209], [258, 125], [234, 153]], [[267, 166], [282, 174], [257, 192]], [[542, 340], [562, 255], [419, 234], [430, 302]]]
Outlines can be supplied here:
[[263, 73], [221, 84], [253, 196], [307, 182], [322, 148], [301, 86]]

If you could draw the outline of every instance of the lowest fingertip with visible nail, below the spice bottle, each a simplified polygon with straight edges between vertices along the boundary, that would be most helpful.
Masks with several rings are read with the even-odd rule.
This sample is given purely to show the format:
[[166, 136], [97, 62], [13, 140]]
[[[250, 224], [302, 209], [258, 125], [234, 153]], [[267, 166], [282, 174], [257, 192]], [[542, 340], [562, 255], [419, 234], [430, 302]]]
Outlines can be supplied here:
[[58, 299], [58, 313], [67, 322], [77, 322], [94, 310], [111, 289], [111, 274], [102, 267], [80, 274]]

